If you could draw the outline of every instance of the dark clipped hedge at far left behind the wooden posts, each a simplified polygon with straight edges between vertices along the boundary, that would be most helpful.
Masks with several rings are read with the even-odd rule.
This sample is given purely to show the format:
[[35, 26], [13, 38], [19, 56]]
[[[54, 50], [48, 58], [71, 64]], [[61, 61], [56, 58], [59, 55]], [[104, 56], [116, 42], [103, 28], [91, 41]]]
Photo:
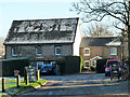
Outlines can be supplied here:
[[2, 77], [13, 77], [14, 70], [20, 70], [20, 74], [23, 77], [24, 67], [29, 66], [29, 60], [26, 58], [1, 59], [0, 63]]

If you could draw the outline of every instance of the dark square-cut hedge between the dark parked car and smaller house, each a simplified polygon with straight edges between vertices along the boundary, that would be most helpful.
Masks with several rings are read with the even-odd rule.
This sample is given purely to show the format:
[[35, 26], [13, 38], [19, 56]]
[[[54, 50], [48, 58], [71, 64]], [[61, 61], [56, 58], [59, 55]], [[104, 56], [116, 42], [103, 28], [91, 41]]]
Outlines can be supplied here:
[[65, 56], [56, 60], [60, 66], [61, 74], [79, 73], [81, 64], [80, 56]]

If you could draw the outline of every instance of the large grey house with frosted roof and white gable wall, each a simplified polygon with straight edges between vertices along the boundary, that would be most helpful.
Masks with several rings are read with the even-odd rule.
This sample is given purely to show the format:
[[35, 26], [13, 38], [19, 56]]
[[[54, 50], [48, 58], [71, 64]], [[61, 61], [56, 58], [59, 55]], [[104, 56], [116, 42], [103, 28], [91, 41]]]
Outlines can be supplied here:
[[4, 40], [5, 58], [36, 57], [37, 66], [60, 56], [79, 56], [79, 18], [13, 20]]

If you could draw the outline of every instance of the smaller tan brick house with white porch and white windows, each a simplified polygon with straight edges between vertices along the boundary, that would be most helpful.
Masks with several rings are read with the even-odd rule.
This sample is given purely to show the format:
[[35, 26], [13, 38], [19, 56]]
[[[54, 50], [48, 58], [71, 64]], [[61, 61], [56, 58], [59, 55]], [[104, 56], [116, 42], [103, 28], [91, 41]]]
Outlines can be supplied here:
[[80, 55], [87, 69], [96, 66], [98, 59], [121, 59], [120, 37], [83, 37], [80, 44]]

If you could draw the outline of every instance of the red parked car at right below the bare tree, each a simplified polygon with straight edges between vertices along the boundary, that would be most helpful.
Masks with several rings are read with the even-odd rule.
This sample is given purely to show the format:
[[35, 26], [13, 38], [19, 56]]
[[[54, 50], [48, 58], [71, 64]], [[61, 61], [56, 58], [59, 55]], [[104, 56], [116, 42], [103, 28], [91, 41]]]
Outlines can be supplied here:
[[121, 75], [121, 63], [119, 59], [108, 59], [105, 65], [105, 77], [110, 75], [110, 65], [116, 65], [118, 67], [119, 75]]

